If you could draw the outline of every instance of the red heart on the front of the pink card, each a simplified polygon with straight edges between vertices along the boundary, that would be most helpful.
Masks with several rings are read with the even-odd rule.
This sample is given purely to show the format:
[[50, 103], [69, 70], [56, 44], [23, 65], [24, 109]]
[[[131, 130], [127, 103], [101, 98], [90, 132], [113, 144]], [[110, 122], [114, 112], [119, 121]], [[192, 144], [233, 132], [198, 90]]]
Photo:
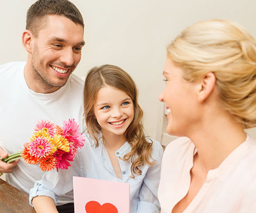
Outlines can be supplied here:
[[99, 204], [97, 201], [89, 201], [85, 204], [86, 213], [118, 213], [117, 208], [111, 203]]

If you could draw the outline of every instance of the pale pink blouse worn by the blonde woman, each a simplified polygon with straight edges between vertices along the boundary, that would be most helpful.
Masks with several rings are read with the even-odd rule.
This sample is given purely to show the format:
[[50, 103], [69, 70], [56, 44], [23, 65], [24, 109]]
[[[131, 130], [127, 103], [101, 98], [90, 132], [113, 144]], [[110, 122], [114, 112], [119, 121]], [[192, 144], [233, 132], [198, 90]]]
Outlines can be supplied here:
[[[195, 145], [189, 138], [165, 150], [158, 189], [161, 213], [171, 213], [190, 186]], [[256, 141], [247, 137], [222, 163], [209, 170], [201, 189], [183, 213], [256, 212]]]

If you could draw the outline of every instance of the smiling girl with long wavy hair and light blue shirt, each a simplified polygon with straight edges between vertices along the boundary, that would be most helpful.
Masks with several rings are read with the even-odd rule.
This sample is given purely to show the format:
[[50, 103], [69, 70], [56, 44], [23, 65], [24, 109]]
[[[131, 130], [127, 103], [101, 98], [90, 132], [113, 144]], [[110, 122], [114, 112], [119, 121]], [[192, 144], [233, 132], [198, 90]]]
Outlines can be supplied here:
[[38, 213], [57, 212], [54, 202], [73, 189], [72, 176], [127, 182], [131, 213], [159, 212], [157, 187], [163, 150], [159, 142], [145, 137], [137, 96], [134, 81], [121, 68], [104, 65], [89, 71], [84, 84], [89, 134], [69, 170], [48, 172], [35, 183], [30, 203]]

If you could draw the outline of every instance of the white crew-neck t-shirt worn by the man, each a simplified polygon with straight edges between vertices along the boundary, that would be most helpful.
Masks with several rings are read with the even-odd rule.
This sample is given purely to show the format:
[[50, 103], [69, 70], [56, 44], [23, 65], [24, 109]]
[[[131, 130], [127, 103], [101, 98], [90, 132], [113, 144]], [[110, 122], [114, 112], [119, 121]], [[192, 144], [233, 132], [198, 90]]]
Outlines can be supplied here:
[[[64, 120], [74, 118], [80, 130], [83, 119], [83, 85], [76, 75], [70, 75], [65, 86], [49, 94], [36, 93], [26, 84], [23, 70], [26, 62], [11, 62], [0, 66], [0, 146], [12, 154], [29, 142], [38, 120], [46, 119], [62, 126]], [[6, 180], [29, 193], [44, 172], [38, 165], [20, 160]], [[61, 197], [58, 204], [73, 201], [72, 193]]]

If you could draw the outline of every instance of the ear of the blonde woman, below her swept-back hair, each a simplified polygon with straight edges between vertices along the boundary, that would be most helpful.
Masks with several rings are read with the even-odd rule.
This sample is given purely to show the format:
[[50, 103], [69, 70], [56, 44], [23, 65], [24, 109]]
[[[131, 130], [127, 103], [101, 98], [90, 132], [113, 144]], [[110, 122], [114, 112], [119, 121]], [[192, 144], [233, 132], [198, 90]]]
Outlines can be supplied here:
[[198, 101], [205, 101], [214, 89], [216, 77], [213, 72], [208, 72], [199, 82]]

